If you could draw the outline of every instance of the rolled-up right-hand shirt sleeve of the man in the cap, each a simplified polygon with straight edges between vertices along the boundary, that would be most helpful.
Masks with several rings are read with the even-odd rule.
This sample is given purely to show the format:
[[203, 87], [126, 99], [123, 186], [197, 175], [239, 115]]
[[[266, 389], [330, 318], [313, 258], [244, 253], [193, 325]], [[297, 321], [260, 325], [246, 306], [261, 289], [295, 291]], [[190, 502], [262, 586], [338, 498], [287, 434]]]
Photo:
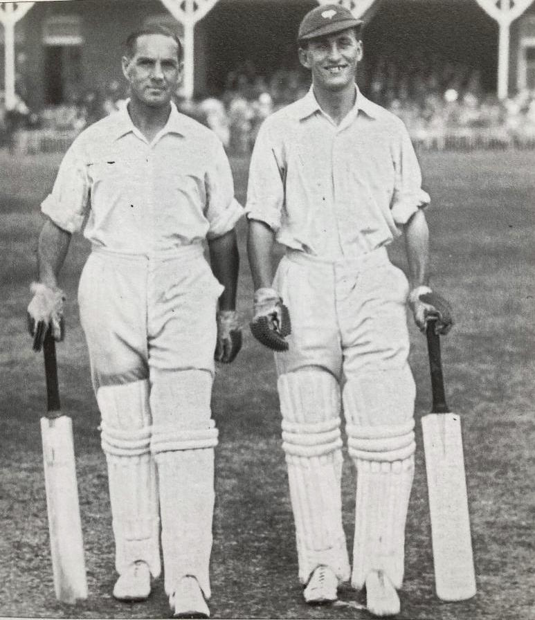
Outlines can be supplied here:
[[410, 217], [430, 203], [421, 189], [421, 171], [408, 131], [400, 121], [399, 149], [394, 157], [395, 185], [390, 209], [396, 224], [406, 224]]

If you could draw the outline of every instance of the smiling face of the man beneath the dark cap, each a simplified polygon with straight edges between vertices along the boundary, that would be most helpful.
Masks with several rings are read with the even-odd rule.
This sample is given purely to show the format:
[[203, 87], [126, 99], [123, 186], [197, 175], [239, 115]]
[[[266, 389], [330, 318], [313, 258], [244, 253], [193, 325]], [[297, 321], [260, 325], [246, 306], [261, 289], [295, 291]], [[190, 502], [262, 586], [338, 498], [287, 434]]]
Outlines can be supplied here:
[[310, 69], [314, 86], [339, 91], [353, 84], [362, 43], [353, 28], [311, 39], [299, 50], [302, 66]]

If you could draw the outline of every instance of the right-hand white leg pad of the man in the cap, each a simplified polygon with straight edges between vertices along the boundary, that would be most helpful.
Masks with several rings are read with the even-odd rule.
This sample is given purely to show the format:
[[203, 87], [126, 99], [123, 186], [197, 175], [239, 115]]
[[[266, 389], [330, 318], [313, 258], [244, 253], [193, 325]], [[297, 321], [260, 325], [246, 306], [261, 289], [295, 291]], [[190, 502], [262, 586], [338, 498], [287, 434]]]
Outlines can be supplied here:
[[[400, 381], [401, 373], [381, 373], [373, 390], [363, 388], [370, 377], [348, 381], [344, 390], [347, 444], [357, 472], [352, 585], [359, 589], [372, 570], [401, 587], [414, 476], [412, 385]], [[402, 392], [399, 400], [396, 390]]]

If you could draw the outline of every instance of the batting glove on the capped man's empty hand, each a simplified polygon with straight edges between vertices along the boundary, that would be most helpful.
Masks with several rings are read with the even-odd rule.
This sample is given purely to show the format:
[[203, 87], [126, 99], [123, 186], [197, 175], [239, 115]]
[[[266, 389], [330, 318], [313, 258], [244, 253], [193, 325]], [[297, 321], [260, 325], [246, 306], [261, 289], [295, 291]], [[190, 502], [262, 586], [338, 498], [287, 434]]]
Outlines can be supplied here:
[[251, 332], [262, 345], [273, 351], [287, 351], [284, 338], [291, 334], [290, 315], [275, 289], [257, 289], [254, 297], [254, 316]]

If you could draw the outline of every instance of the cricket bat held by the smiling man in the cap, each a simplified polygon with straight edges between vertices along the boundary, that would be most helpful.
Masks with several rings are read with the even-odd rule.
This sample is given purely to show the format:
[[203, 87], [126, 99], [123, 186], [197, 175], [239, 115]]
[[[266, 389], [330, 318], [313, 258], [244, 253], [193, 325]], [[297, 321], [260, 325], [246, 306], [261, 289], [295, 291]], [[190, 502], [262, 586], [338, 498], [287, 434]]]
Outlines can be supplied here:
[[435, 321], [427, 325], [433, 408], [421, 418], [426, 457], [435, 590], [443, 601], [464, 601], [475, 595], [475, 572], [461, 419], [446, 405]]

